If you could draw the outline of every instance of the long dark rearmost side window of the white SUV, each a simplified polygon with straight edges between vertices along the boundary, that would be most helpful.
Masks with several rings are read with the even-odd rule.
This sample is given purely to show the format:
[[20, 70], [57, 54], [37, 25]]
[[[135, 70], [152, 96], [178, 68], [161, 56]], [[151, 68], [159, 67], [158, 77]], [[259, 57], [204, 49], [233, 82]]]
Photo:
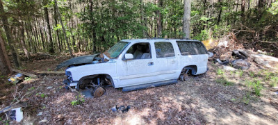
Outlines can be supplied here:
[[206, 48], [201, 42], [177, 41], [182, 56], [206, 54]]

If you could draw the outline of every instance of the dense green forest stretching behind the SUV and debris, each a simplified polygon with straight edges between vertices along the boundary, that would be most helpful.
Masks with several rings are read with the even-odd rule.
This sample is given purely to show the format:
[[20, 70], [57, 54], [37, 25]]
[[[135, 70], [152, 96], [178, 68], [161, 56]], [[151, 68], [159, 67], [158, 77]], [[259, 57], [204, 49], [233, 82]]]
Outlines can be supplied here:
[[[21, 67], [19, 56], [30, 60], [32, 53], [74, 56], [104, 51], [123, 39], [184, 38], [188, 5], [187, 38], [218, 40], [233, 33], [245, 47], [277, 56], [275, 0], [0, 0], [0, 51]], [[10, 59], [0, 58], [3, 71]]]

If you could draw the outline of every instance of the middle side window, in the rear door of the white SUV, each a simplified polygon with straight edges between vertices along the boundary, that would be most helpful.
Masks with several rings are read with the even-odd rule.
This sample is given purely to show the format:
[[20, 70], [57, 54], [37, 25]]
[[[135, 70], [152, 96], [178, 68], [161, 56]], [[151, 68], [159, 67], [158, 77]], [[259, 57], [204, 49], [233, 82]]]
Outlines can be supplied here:
[[170, 42], [155, 42], [156, 58], [166, 58], [174, 56], [174, 48]]

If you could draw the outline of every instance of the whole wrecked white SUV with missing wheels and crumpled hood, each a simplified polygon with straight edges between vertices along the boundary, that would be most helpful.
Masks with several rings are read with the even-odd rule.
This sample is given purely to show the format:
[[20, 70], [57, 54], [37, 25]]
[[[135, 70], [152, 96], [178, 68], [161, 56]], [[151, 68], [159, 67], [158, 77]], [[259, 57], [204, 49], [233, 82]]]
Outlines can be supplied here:
[[103, 94], [107, 85], [138, 90], [177, 83], [187, 74], [207, 70], [208, 52], [202, 42], [181, 39], [136, 39], [117, 42], [101, 54], [81, 56], [57, 66], [68, 67], [67, 85]]

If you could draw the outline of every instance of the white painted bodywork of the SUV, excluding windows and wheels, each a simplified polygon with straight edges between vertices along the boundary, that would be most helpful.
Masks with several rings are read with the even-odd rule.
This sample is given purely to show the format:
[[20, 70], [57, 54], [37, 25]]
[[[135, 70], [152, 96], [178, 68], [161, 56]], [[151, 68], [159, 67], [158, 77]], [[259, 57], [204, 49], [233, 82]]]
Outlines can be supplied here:
[[[144, 85], [159, 83], [163, 81], [177, 81], [181, 71], [186, 66], [195, 66], [197, 71], [194, 75], [203, 74], [207, 69], [208, 53], [183, 55], [177, 44], [177, 39], [137, 39], [137, 40], [122, 40], [129, 42], [126, 48], [120, 53], [117, 58], [108, 60], [106, 63], [86, 64], [66, 69], [72, 75], [72, 81], [79, 81], [85, 76], [95, 74], [107, 74], [111, 76], [114, 88], [132, 87], [136, 85]], [[183, 40], [185, 42], [199, 42], [197, 40]], [[136, 44], [144, 44], [144, 47], [149, 49], [149, 58], [135, 57], [131, 60], [125, 60], [124, 55], [136, 46]], [[167, 43], [167, 46], [173, 49], [167, 49], [162, 46]], [[200, 42], [202, 43], [202, 42]], [[147, 44], [147, 45], [146, 45]], [[162, 45], [161, 45], [162, 44]], [[198, 43], [199, 44], [199, 43]], [[165, 57], [159, 57], [158, 54], [166, 51]], [[170, 52], [168, 52], [170, 51]], [[147, 51], [145, 51], [146, 53]], [[172, 83], [172, 82], [170, 82]]]

